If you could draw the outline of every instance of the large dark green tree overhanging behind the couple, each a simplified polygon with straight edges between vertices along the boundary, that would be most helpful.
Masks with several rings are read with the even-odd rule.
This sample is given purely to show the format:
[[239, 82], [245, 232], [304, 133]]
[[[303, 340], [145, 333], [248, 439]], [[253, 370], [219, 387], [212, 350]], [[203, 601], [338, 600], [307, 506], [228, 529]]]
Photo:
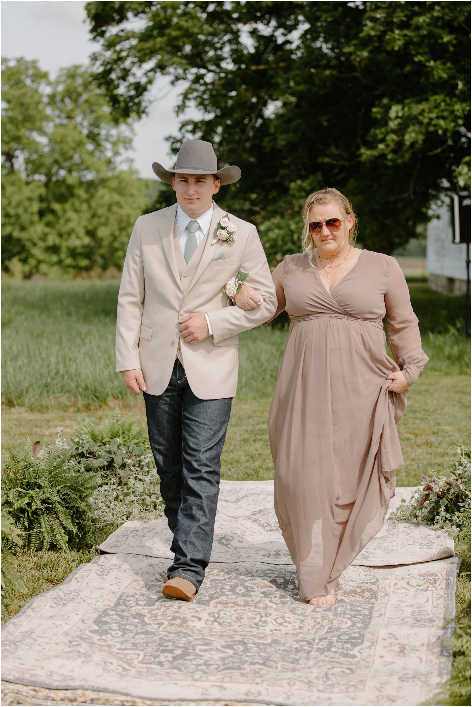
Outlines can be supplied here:
[[[213, 142], [243, 177], [218, 196], [266, 252], [300, 248], [300, 205], [338, 187], [360, 240], [406, 243], [470, 175], [470, 7], [464, 2], [89, 2], [97, 78], [143, 115], [158, 74], [182, 83], [183, 138]], [[167, 196], [166, 196], [167, 194]], [[172, 199], [160, 192], [159, 204]]]

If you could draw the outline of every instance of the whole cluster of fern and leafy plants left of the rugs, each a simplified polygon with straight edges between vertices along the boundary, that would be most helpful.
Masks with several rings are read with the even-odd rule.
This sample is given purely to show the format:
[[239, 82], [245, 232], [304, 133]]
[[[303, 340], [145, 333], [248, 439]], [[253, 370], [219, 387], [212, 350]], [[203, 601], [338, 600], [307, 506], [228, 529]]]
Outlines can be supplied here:
[[25, 532], [25, 547], [78, 547], [95, 529], [163, 515], [146, 428], [119, 409], [100, 426], [83, 418], [71, 440], [11, 453], [2, 478], [2, 509]]

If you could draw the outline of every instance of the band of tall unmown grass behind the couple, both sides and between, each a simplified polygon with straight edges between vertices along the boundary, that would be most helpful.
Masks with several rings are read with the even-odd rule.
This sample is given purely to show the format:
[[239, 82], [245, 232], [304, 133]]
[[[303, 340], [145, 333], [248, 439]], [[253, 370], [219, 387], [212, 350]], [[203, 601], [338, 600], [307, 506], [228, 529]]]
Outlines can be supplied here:
[[[117, 281], [29, 281], [2, 284], [2, 401], [30, 411], [98, 409], [110, 401], [132, 405], [134, 396], [114, 373]], [[451, 327], [464, 320], [465, 298], [411, 284], [420, 319], [427, 370], [466, 375], [470, 344]], [[286, 332], [247, 332], [240, 347], [239, 395], [269, 397]]]

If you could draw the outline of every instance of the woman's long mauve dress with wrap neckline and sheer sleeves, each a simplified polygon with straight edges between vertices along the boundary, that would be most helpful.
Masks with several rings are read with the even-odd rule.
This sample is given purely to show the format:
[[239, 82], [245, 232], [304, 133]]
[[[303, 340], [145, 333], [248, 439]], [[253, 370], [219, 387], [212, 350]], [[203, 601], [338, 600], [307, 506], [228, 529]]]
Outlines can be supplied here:
[[401, 369], [412, 384], [427, 356], [388, 255], [363, 250], [331, 293], [307, 254], [287, 255], [273, 280], [291, 318], [269, 415], [275, 507], [309, 600], [334, 587], [383, 525], [403, 464], [396, 423], [407, 396], [389, 392], [387, 375]]

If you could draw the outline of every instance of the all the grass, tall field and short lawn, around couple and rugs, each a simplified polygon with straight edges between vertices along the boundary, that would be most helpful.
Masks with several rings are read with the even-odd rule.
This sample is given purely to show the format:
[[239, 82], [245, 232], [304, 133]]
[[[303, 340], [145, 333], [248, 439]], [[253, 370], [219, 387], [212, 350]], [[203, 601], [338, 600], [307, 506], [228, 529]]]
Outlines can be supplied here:
[[[464, 334], [465, 298], [442, 296], [420, 279], [408, 284], [430, 361], [408, 392], [408, 409], [399, 424], [405, 465], [397, 472], [397, 484], [419, 486], [422, 474], [450, 473], [456, 448], [470, 443], [471, 351]], [[122, 375], [114, 372], [118, 288], [117, 281], [3, 282], [2, 453], [6, 457], [11, 451], [20, 454], [28, 438], [32, 443], [52, 443], [57, 427], [68, 437], [84, 424], [100, 425], [114, 408], [131, 415], [137, 426], [145, 425], [142, 396], [126, 390]], [[240, 335], [238, 390], [222, 457], [224, 479], [273, 478], [267, 420], [287, 323], [288, 317], [279, 317], [269, 327]], [[464, 542], [456, 546], [463, 556], [456, 595], [459, 643], [470, 629], [470, 542], [468, 549]], [[91, 544], [69, 551], [17, 549], [11, 561], [23, 588], [13, 592], [8, 613], [13, 615], [28, 599], [63, 581], [94, 554]], [[470, 703], [469, 693], [464, 693], [470, 640], [468, 648], [457, 649], [454, 655], [456, 687], [437, 703]]]

